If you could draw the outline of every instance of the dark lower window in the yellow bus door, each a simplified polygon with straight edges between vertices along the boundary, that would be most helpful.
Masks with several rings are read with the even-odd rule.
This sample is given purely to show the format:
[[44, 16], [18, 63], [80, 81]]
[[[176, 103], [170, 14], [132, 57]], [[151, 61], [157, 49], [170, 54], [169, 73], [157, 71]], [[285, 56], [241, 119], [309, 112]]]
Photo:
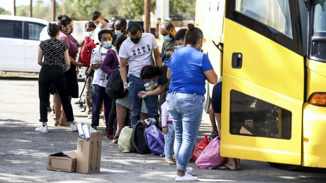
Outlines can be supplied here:
[[291, 138], [291, 112], [231, 90], [230, 134]]

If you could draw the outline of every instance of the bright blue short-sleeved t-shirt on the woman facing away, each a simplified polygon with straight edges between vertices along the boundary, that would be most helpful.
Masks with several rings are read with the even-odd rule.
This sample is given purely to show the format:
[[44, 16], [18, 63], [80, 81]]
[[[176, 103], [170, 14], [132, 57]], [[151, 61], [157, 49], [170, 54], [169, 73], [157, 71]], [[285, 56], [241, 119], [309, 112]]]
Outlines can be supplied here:
[[206, 54], [194, 47], [183, 47], [175, 51], [169, 59], [171, 84], [168, 93], [205, 95], [205, 71], [213, 69]]

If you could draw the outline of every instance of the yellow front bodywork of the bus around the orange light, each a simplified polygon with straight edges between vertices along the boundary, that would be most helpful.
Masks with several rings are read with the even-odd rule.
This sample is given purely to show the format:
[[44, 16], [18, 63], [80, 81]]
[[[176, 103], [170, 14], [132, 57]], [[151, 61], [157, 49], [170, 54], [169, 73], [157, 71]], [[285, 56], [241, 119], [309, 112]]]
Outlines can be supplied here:
[[[312, 93], [326, 92], [326, 63], [307, 60], [307, 100]], [[303, 108], [303, 166], [326, 168], [326, 107], [308, 103]]]

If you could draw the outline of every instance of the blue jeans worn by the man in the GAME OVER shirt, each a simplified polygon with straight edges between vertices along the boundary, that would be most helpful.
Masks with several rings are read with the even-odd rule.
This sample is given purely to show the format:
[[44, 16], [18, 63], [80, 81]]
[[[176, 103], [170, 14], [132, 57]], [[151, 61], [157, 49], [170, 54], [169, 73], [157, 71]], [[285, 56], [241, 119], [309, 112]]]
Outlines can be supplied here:
[[[136, 77], [134, 75], [130, 75], [129, 82], [129, 99], [131, 106], [131, 127], [137, 123], [138, 120], [141, 119], [141, 102], [145, 101], [146, 107], [148, 110], [148, 114], [150, 118], [159, 117], [158, 114], [158, 98], [157, 96], [148, 96], [144, 99], [138, 97], [138, 93], [141, 91], [145, 91], [144, 84], [146, 83], [141, 78]], [[158, 120], [157, 122], [158, 123]]]

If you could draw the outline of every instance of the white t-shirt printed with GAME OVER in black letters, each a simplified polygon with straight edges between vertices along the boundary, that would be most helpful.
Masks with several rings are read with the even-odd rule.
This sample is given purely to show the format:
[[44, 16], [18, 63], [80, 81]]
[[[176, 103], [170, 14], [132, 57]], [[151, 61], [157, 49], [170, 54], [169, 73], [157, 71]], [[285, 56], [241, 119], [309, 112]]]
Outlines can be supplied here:
[[142, 33], [141, 40], [137, 44], [134, 44], [129, 37], [122, 43], [119, 57], [128, 59], [128, 77], [130, 74], [140, 77], [142, 67], [154, 65], [152, 51], [157, 47], [156, 39], [151, 33]]

